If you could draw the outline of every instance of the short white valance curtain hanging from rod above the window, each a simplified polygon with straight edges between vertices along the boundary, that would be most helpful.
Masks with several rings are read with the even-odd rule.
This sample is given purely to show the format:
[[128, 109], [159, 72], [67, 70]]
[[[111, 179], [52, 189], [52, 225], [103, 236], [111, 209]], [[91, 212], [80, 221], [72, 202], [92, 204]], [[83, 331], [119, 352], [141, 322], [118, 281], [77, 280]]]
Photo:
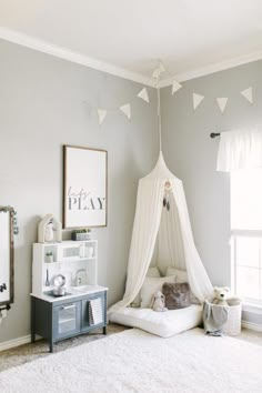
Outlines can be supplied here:
[[221, 132], [216, 170], [262, 168], [262, 129]]

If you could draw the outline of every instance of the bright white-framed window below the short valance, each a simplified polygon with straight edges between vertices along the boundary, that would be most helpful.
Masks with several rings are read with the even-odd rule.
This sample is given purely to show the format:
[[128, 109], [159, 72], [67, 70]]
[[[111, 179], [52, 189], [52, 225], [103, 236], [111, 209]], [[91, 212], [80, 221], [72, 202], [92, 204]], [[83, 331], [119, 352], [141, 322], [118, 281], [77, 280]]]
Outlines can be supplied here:
[[262, 169], [231, 172], [232, 288], [262, 304]]

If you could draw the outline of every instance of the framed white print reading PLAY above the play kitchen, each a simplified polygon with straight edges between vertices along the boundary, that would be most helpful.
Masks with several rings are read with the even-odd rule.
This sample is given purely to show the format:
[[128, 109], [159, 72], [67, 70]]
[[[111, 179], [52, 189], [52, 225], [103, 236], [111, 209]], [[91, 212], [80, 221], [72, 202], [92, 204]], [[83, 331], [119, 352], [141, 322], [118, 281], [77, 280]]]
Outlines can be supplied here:
[[108, 152], [63, 147], [63, 228], [107, 226]]

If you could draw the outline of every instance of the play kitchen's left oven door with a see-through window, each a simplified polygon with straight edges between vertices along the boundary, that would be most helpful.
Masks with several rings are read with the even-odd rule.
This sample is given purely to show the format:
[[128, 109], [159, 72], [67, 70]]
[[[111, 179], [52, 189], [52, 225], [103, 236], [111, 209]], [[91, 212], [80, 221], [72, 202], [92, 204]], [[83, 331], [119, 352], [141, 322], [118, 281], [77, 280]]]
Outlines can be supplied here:
[[53, 310], [54, 340], [78, 334], [80, 332], [80, 302], [58, 305]]

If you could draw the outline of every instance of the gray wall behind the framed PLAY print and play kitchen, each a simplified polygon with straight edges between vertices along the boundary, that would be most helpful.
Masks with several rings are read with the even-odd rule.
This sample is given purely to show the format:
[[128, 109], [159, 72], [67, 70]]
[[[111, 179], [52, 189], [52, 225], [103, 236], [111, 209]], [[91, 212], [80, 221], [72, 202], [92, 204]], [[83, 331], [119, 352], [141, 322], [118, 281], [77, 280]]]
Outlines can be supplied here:
[[[0, 40], [0, 204], [18, 211], [16, 302], [0, 342], [29, 334], [32, 243], [40, 216], [62, 219], [62, 144], [109, 152], [108, 228], [97, 229], [99, 283], [109, 304], [123, 293], [138, 180], [158, 158], [155, 92], [141, 85]], [[92, 105], [132, 100], [132, 120], [111, 113], [98, 125]], [[89, 105], [91, 104], [91, 107]]]

